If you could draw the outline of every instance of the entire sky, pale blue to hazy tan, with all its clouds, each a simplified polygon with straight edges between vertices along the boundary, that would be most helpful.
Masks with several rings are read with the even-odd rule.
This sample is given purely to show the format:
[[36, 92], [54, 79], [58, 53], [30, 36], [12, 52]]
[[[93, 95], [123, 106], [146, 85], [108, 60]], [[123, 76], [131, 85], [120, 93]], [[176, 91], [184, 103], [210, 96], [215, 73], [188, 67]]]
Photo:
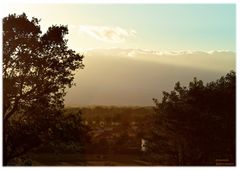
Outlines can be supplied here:
[[12, 4], [51, 25], [68, 25], [84, 54], [65, 104], [153, 105], [177, 81], [213, 81], [235, 70], [234, 4]]

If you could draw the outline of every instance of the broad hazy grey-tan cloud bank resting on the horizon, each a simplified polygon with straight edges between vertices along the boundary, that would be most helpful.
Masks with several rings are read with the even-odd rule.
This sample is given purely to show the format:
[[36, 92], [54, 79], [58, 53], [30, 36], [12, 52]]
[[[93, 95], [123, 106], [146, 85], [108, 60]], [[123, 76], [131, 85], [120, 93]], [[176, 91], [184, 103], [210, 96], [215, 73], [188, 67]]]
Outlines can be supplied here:
[[[197, 77], [208, 83], [235, 70], [235, 53], [232, 52], [159, 56], [151, 51], [140, 52], [131, 49], [88, 51], [84, 58], [85, 68], [75, 75], [77, 85], [67, 90], [66, 106], [153, 106], [152, 98], [161, 98], [162, 91], [172, 90], [177, 81], [188, 86], [193, 77]], [[128, 56], [133, 53], [135, 56]], [[218, 59], [218, 56], [222, 57]], [[98, 64], [98, 57], [104, 65]], [[173, 59], [158, 61], [156, 57]], [[178, 57], [186, 57], [188, 61], [180, 63]], [[198, 61], [199, 57], [203, 61]], [[191, 66], [191, 60], [198, 63]]]

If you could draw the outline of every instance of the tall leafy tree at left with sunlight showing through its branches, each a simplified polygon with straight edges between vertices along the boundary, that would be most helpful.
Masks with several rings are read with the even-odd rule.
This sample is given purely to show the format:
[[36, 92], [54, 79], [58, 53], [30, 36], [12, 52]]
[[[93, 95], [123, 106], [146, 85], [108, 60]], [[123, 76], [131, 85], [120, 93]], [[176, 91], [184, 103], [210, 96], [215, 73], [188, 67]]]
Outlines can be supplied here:
[[83, 56], [67, 46], [67, 26], [42, 34], [39, 21], [24, 13], [3, 18], [4, 165], [47, 135], [75, 70], [84, 67]]

